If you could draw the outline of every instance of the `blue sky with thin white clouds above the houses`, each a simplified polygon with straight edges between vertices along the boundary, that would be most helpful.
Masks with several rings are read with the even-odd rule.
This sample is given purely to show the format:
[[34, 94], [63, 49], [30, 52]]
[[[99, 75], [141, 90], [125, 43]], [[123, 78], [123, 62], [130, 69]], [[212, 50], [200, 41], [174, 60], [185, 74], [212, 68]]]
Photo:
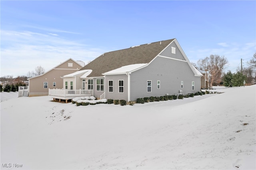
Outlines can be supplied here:
[[0, 1], [1, 76], [176, 38], [191, 62], [256, 52], [256, 1]]

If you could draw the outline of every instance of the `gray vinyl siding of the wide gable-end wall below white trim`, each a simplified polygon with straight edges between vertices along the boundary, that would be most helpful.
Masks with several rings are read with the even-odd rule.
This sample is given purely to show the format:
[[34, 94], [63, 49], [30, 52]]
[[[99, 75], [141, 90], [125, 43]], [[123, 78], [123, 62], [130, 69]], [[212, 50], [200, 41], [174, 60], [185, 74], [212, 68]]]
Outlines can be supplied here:
[[[176, 54], [178, 50], [176, 49]], [[151, 92], [147, 92], [147, 81], [152, 81]], [[157, 89], [160, 81], [160, 89]], [[181, 89], [183, 81], [183, 89]], [[195, 89], [192, 90], [192, 81]], [[165, 94], [195, 93], [200, 91], [200, 77], [195, 77], [190, 66], [185, 61], [164, 57], [156, 57], [148, 66], [132, 72], [130, 75], [130, 100], [139, 97], [163, 96]]]

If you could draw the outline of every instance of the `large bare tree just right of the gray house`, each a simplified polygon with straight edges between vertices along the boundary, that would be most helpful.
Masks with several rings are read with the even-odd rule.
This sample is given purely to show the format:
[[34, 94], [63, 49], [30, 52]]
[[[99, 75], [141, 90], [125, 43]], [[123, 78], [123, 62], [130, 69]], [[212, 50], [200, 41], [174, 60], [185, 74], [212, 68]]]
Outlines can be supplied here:
[[210, 87], [212, 87], [213, 82], [221, 81], [222, 72], [228, 60], [224, 56], [210, 55], [210, 57], [198, 60], [197, 64], [202, 73], [211, 74]]

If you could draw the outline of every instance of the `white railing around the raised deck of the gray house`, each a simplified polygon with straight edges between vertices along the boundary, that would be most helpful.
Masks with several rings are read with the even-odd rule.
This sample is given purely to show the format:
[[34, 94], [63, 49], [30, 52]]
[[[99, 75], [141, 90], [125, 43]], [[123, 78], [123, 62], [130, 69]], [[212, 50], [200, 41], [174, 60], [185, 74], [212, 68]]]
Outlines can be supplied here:
[[92, 96], [92, 90], [64, 90], [64, 89], [49, 89], [48, 95], [70, 97], [70, 96]]

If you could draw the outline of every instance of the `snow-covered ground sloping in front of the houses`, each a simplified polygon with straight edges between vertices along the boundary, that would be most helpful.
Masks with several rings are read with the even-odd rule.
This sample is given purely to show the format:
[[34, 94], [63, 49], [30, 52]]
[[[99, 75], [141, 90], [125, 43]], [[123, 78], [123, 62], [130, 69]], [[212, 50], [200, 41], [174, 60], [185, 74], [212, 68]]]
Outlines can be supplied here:
[[215, 88], [134, 106], [2, 92], [1, 168], [256, 169], [256, 85]]

